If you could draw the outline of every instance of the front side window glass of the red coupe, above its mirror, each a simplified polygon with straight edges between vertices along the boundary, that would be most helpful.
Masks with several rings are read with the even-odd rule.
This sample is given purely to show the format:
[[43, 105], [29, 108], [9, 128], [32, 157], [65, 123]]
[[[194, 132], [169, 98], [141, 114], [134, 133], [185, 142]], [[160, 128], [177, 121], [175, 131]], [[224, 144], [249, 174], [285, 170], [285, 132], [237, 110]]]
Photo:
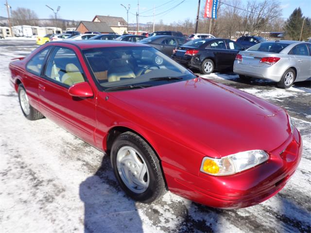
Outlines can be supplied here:
[[45, 76], [69, 86], [84, 82], [83, 71], [74, 51], [60, 47], [53, 51]]

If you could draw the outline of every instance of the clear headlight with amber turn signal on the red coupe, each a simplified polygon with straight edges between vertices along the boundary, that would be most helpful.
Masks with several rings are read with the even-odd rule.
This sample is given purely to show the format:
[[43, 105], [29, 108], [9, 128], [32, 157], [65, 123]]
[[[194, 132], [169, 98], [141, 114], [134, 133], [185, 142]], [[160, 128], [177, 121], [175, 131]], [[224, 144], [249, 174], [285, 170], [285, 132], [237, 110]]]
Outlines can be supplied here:
[[200, 170], [214, 176], [226, 176], [259, 165], [268, 159], [269, 155], [263, 150], [248, 150], [221, 159], [204, 157]]

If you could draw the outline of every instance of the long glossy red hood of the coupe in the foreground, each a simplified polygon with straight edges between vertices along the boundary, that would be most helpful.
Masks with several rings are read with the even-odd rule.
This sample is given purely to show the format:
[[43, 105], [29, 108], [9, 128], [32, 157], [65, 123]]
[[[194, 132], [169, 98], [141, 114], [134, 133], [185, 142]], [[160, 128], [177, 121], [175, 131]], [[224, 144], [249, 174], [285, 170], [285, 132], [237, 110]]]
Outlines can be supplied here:
[[271, 151], [290, 134], [282, 108], [203, 78], [111, 95], [131, 105], [140, 126], [211, 157]]

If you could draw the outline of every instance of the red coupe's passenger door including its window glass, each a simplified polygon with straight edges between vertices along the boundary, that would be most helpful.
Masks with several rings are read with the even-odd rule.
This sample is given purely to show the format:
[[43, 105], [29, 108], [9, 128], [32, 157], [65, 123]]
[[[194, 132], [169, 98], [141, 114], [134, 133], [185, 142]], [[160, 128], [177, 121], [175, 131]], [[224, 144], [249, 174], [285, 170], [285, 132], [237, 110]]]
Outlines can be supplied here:
[[80, 61], [83, 57], [74, 46], [54, 47], [39, 82], [40, 106], [44, 116], [94, 145], [95, 96], [81, 99], [68, 93], [71, 85], [87, 81]]

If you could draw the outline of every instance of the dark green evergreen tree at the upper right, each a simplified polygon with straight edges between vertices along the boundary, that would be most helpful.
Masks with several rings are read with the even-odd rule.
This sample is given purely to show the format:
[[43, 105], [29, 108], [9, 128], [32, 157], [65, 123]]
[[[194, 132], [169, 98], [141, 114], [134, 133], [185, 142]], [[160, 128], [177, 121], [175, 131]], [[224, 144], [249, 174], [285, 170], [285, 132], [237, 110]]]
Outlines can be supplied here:
[[303, 17], [300, 7], [296, 8], [292, 15], [288, 18], [285, 24], [284, 31], [286, 37], [292, 40], [299, 40], [300, 32], [302, 28], [302, 23], [305, 18], [305, 23], [302, 31], [302, 40], [306, 40], [311, 36], [311, 19], [308, 17]]

